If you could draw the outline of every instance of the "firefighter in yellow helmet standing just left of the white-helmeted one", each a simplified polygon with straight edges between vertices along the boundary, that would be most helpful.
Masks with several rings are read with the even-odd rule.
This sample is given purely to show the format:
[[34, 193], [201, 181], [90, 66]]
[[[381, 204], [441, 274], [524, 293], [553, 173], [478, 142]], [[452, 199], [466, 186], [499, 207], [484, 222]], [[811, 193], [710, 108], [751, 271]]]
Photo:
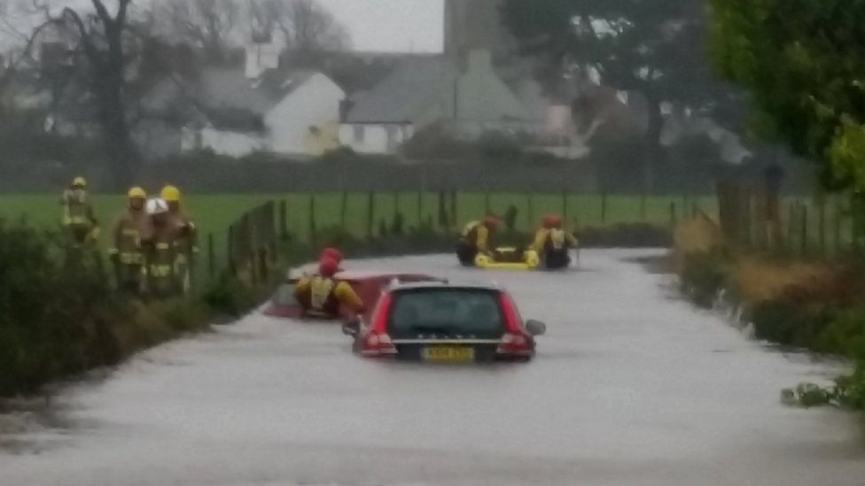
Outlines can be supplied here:
[[141, 252], [141, 233], [147, 224], [144, 204], [147, 193], [135, 187], [129, 189], [129, 207], [122, 212], [112, 230], [112, 247], [108, 250], [114, 266], [117, 289], [137, 293], [141, 290], [144, 255]]

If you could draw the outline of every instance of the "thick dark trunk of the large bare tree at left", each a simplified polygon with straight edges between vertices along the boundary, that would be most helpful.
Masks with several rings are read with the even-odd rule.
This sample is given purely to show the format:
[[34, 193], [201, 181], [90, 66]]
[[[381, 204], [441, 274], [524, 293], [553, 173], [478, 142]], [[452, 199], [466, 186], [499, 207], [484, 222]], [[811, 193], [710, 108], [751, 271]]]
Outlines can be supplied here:
[[113, 14], [105, 7], [103, 0], [90, 2], [95, 15], [82, 15], [66, 7], [62, 19], [72, 22], [80, 36], [82, 53], [90, 74], [90, 92], [97, 100], [113, 180], [119, 187], [124, 187], [132, 181], [138, 161], [126, 109], [126, 68], [129, 59], [124, 33], [129, 25], [129, 4], [132, 0], [116, 0], [117, 10]]

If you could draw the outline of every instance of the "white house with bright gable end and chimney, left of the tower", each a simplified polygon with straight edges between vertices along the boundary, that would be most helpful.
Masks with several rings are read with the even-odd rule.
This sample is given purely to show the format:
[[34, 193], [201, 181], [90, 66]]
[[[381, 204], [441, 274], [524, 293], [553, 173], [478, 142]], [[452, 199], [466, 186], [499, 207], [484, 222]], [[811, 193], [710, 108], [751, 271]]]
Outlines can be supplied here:
[[323, 73], [250, 70], [247, 63], [208, 68], [196, 80], [162, 81], [147, 97], [147, 110], [179, 120], [178, 150], [318, 156], [339, 147], [336, 127], [345, 96]]

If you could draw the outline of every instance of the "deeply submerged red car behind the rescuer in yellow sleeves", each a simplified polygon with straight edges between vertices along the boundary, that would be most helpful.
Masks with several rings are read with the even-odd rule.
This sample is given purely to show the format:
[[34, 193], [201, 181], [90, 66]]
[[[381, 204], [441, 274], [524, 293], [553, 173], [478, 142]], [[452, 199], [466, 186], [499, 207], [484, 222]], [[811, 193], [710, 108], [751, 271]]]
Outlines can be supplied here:
[[[344, 271], [334, 276], [336, 280], [348, 282], [355, 289], [358, 297], [361, 297], [363, 305], [367, 309], [367, 317], [376, 306], [378, 297], [382, 291], [394, 282], [440, 282], [438, 279], [423, 274], [405, 274], [400, 272], [370, 272], [370, 271]], [[266, 315], [273, 317], [298, 319], [303, 317], [303, 309], [294, 298], [294, 285], [300, 279], [292, 278], [279, 286], [276, 293], [270, 299], [270, 305], [264, 311]], [[342, 317], [354, 318], [354, 314], [348, 309], [342, 309]]]

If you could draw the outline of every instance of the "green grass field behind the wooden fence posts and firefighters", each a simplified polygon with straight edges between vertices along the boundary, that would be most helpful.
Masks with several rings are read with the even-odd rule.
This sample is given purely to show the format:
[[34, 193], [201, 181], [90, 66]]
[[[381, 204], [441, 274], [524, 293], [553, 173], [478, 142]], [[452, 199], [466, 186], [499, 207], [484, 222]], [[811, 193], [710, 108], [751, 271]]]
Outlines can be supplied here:
[[[193, 194], [184, 199], [185, 208], [196, 221], [200, 235], [202, 250], [207, 249], [207, 235], [214, 237], [214, 255], [217, 270], [225, 267], [226, 235], [230, 224], [237, 220], [245, 211], [257, 204], [269, 200], [284, 199], [288, 207], [287, 226], [293, 235], [305, 239], [310, 231], [310, 214], [315, 204], [316, 228], [330, 226], [345, 227], [354, 235], [366, 235], [370, 214], [370, 196], [368, 193], [347, 193], [345, 201], [345, 217], [343, 220], [343, 194], [320, 193], [310, 194], [260, 194], [260, 195], [213, 195]], [[417, 226], [418, 221], [432, 219], [438, 223], [438, 195], [433, 193], [401, 192], [378, 193], [373, 198], [373, 232], [378, 235], [381, 220], [388, 224], [398, 210], [402, 213], [406, 228]], [[121, 195], [93, 195], [104, 235], [113, 220], [122, 211], [125, 197]], [[518, 193], [490, 193], [489, 208], [503, 214], [510, 204], [518, 208], [517, 227], [522, 230], [535, 228], [543, 214], [557, 213], [566, 216], [573, 226], [604, 226], [616, 223], [648, 221], [658, 224], [668, 224], [671, 219], [671, 204], [674, 204], [676, 216], [681, 218], [683, 212], [690, 212], [693, 207], [714, 212], [714, 199], [711, 197], [648, 197], [645, 200], [643, 216], [643, 198], [629, 196], [610, 196], [606, 198], [605, 207], [602, 197], [596, 195], [561, 194], [538, 195], [529, 197]], [[457, 197], [457, 226], [461, 227], [469, 220], [481, 218], [487, 209], [487, 195], [483, 193], [461, 193]], [[41, 228], [59, 228], [61, 208], [58, 195], [0, 195], [0, 218], [10, 220], [26, 218], [31, 224]], [[105, 237], [103, 237], [105, 240]], [[207, 268], [199, 266], [199, 279], [207, 275]], [[200, 280], [199, 280], [200, 282]]]

